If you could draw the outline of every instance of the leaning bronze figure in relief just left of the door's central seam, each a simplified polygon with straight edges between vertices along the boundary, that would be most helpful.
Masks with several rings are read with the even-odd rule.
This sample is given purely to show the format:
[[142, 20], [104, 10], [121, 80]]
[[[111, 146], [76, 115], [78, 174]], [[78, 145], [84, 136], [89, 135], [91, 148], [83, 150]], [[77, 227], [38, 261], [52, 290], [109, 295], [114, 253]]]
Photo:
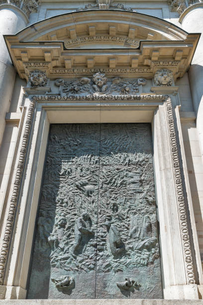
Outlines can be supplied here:
[[73, 245], [72, 252], [77, 254], [82, 247], [82, 241], [86, 236], [93, 236], [94, 231], [91, 230], [91, 219], [87, 212], [83, 212], [82, 216], [75, 221], [75, 244]]

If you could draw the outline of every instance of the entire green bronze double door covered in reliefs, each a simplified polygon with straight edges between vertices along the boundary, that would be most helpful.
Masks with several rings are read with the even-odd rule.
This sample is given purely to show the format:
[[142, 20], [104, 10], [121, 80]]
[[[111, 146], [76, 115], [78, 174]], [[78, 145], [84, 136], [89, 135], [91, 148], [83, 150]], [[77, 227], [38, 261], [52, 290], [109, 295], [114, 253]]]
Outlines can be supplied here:
[[162, 298], [150, 124], [51, 126], [28, 298]]

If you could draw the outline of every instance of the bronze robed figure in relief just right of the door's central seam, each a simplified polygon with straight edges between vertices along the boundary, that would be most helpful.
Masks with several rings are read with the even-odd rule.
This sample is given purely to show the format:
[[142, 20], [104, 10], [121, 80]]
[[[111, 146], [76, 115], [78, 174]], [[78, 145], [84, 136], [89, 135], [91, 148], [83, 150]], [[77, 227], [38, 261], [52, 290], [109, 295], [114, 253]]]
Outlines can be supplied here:
[[108, 243], [110, 251], [113, 256], [123, 254], [125, 251], [125, 245], [121, 240], [120, 233], [117, 228], [111, 224], [110, 221], [105, 222], [106, 230], [108, 232]]

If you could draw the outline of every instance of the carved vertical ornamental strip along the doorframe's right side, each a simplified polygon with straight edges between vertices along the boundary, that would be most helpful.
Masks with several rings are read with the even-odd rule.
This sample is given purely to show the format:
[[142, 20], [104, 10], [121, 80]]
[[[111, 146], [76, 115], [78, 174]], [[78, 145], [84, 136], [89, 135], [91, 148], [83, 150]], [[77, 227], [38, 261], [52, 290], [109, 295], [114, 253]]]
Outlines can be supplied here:
[[191, 252], [191, 241], [190, 241], [190, 235], [189, 235], [189, 229], [187, 223], [187, 210], [186, 210], [186, 204], [185, 204], [185, 198], [183, 192], [183, 182], [181, 179], [181, 170], [180, 170], [180, 162], [178, 155], [173, 107], [170, 98], [166, 99], [166, 112], [167, 112], [167, 122], [168, 122], [169, 138], [170, 138], [170, 149], [171, 149], [172, 163], [173, 163], [172, 164], [173, 173], [174, 173], [175, 187], [176, 187], [176, 197], [178, 202], [178, 214], [179, 214], [179, 221], [181, 227], [181, 240], [182, 240], [183, 252], [184, 252], [187, 284], [195, 284], [193, 257]]

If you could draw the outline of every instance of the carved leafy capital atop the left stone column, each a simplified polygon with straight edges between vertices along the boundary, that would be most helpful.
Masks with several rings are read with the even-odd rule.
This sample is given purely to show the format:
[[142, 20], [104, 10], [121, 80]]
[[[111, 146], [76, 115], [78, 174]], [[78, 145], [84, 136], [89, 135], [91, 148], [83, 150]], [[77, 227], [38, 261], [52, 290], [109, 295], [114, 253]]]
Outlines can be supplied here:
[[30, 13], [37, 12], [41, 0], [0, 0], [0, 4], [11, 4], [20, 8], [29, 18]]

